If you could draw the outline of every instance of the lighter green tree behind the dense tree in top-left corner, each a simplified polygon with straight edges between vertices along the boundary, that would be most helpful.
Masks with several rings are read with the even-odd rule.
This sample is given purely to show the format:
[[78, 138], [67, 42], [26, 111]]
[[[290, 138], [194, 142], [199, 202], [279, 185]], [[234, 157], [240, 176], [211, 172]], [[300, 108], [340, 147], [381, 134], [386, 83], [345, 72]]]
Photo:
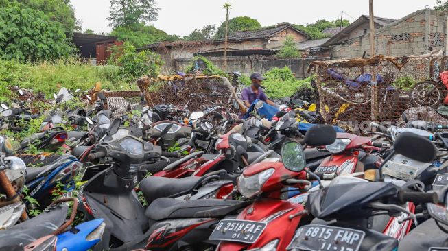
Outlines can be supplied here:
[[70, 0], [16, 0], [23, 8], [32, 8], [45, 13], [51, 21], [62, 25], [66, 34], [73, 34], [81, 29], [75, 18], [75, 10]]

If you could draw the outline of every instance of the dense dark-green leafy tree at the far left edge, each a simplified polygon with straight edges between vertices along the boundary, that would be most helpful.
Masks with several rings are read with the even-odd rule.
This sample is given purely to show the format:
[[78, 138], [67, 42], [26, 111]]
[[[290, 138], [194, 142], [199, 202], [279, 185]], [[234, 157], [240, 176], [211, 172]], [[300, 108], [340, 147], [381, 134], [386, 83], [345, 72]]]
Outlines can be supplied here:
[[44, 12], [19, 3], [0, 8], [0, 58], [49, 60], [72, 51], [61, 24], [49, 20]]

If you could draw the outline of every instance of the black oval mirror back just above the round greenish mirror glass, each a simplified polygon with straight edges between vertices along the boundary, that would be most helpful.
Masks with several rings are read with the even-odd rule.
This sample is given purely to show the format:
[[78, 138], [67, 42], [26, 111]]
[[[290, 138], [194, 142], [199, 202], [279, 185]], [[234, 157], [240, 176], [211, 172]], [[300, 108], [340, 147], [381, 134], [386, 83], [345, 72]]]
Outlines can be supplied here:
[[336, 140], [336, 130], [331, 125], [314, 125], [305, 133], [303, 141], [307, 145], [331, 145]]

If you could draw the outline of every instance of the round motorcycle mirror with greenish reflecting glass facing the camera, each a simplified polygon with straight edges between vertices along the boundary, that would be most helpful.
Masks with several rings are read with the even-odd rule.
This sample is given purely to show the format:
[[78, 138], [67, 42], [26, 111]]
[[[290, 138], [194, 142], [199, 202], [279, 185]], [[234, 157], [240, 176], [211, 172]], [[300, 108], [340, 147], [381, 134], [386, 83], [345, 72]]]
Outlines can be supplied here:
[[281, 158], [290, 171], [302, 171], [307, 164], [302, 145], [296, 141], [287, 141], [281, 146]]

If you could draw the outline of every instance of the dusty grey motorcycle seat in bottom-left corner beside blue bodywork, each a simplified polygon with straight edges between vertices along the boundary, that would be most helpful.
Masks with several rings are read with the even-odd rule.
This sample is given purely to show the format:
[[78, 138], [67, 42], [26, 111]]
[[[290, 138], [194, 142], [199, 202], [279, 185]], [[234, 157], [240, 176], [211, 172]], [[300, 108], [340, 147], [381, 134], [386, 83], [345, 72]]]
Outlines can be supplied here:
[[59, 205], [21, 224], [0, 231], [0, 250], [16, 250], [18, 247], [23, 250], [23, 246], [28, 243], [45, 235], [51, 235], [64, 224], [68, 210], [67, 204]]

